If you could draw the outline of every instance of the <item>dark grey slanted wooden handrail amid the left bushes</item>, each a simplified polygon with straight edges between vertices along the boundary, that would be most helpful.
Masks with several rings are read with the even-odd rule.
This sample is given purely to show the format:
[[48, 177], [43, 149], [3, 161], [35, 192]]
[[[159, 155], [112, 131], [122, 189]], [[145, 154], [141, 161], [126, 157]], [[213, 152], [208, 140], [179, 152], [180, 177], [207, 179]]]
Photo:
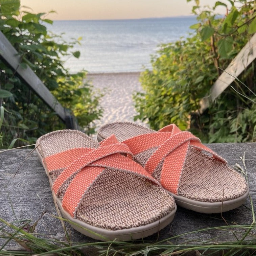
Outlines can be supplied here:
[[17, 50], [10, 44], [4, 34], [0, 31], [0, 56], [25, 80], [25, 82], [42, 98], [50, 108], [52, 108], [60, 118], [65, 121], [65, 108], [51, 94], [48, 88], [43, 84], [39, 77], [30, 67], [22, 68], [20, 66], [21, 58]]

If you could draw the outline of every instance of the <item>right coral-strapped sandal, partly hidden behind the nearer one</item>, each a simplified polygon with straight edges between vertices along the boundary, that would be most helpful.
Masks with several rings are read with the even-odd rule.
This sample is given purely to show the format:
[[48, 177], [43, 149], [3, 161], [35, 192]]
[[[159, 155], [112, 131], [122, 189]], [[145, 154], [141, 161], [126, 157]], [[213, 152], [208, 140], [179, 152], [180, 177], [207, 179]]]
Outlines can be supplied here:
[[130, 122], [103, 125], [97, 138], [114, 134], [129, 146], [134, 160], [173, 195], [177, 205], [204, 213], [229, 211], [242, 205], [249, 188], [222, 157], [190, 132], [171, 124], [158, 132]]

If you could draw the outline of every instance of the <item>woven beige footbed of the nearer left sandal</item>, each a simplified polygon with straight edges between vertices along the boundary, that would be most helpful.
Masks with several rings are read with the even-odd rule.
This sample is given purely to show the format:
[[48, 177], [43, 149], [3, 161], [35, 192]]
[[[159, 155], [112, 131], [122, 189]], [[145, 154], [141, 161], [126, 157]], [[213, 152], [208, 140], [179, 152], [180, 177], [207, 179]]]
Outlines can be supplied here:
[[[74, 130], [46, 134], [37, 140], [37, 144], [42, 158], [76, 147], [99, 147], [89, 136]], [[58, 169], [49, 173], [52, 182], [62, 171]], [[56, 195], [59, 200], [63, 200], [74, 177], [59, 190]], [[123, 230], [159, 222], [175, 209], [173, 197], [159, 185], [135, 173], [106, 168], [85, 192], [75, 218], [102, 229]]]

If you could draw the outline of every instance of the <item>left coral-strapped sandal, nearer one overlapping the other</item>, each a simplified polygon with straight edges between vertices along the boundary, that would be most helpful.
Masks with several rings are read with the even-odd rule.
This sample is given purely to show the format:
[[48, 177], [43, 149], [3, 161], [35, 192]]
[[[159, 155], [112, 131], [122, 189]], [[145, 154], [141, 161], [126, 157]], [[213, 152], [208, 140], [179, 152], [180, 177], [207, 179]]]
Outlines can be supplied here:
[[54, 199], [79, 232], [124, 241], [152, 235], [172, 221], [173, 197], [114, 135], [99, 144], [82, 132], [61, 130], [37, 144]]

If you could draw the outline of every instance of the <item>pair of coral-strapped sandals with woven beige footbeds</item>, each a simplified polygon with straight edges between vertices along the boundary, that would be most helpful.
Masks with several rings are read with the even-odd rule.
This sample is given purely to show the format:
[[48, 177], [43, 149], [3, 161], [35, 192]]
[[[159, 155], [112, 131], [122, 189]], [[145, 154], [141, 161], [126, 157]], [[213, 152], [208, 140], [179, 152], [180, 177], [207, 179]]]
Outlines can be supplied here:
[[98, 240], [152, 235], [177, 205], [218, 213], [242, 205], [249, 188], [222, 157], [171, 124], [158, 132], [131, 122], [103, 125], [95, 142], [75, 130], [37, 140], [37, 153], [63, 216]]

